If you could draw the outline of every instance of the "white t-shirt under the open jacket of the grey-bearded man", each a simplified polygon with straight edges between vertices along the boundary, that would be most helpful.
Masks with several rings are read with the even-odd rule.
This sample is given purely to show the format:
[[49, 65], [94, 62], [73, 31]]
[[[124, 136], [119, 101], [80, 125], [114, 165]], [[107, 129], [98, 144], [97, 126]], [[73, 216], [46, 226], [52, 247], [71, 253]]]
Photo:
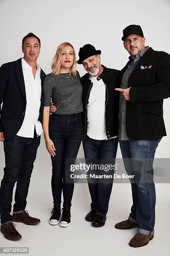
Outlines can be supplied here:
[[[87, 135], [95, 140], [106, 140], [105, 128], [105, 91], [106, 86], [102, 79], [89, 77], [93, 83], [87, 102]], [[116, 138], [112, 137], [112, 138]]]

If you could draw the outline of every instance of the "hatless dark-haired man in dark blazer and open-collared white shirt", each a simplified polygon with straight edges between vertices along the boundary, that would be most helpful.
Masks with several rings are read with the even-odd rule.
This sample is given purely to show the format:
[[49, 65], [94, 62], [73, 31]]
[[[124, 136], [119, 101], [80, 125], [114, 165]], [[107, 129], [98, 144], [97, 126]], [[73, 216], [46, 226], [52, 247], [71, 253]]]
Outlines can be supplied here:
[[[36, 63], [40, 39], [28, 33], [23, 38], [22, 51], [23, 58], [0, 67], [0, 105], [3, 102], [0, 108], [0, 141], [4, 143], [5, 152], [4, 177], [0, 186], [0, 231], [10, 240], [22, 238], [13, 221], [27, 225], [40, 223], [25, 210], [42, 133], [45, 73]], [[12, 216], [15, 182], [17, 187]]]

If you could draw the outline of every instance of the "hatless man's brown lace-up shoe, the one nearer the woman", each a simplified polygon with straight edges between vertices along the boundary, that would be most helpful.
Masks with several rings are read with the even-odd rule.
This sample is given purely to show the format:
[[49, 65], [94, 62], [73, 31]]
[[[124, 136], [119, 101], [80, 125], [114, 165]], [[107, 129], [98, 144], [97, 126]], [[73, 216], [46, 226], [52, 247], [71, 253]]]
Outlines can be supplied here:
[[24, 210], [23, 212], [19, 213], [13, 213], [13, 221], [22, 222], [27, 225], [34, 225], [40, 223], [40, 220], [31, 217], [27, 210]]

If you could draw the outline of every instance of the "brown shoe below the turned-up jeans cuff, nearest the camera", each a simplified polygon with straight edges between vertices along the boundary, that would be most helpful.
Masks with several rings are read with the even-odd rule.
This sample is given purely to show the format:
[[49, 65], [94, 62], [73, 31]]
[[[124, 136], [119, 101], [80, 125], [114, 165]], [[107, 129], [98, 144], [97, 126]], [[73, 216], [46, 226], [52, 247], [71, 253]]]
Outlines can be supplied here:
[[153, 239], [154, 235], [143, 235], [137, 233], [129, 242], [129, 245], [132, 247], [141, 247], [145, 246], [149, 243], [150, 240]]

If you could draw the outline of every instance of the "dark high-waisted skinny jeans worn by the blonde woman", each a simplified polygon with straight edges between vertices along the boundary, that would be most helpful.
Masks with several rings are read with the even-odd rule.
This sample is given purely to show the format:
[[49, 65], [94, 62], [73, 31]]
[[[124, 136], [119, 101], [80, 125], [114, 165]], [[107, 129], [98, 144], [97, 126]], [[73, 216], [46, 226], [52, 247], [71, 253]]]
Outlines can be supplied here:
[[[70, 207], [74, 190], [74, 182], [69, 180], [69, 167], [65, 165], [66, 159], [76, 159], [82, 141], [82, 116], [81, 113], [70, 115], [50, 115], [49, 136], [55, 146], [55, 156], [52, 161], [52, 196], [53, 203], [61, 203]], [[74, 163], [72, 163], [74, 164]], [[68, 174], [68, 175], [67, 175]]]

